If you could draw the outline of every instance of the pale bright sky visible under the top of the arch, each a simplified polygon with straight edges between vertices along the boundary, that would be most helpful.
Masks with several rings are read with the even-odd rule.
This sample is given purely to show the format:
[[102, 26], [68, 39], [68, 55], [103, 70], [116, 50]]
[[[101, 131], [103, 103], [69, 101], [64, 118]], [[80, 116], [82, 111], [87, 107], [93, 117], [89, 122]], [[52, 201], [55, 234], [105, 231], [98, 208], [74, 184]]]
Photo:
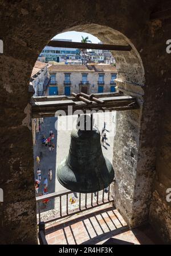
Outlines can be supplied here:
[[100, 43], [100, 40], [97, 37], [94, 37], [91, 34], [85, 32], [76, 32], [76, 31], [68, 31], [58, 35], [55, 35], [56, 39], [72, 39], [72, 42], [81, 42], [83, 37], [88, 37], [92, 43]]

